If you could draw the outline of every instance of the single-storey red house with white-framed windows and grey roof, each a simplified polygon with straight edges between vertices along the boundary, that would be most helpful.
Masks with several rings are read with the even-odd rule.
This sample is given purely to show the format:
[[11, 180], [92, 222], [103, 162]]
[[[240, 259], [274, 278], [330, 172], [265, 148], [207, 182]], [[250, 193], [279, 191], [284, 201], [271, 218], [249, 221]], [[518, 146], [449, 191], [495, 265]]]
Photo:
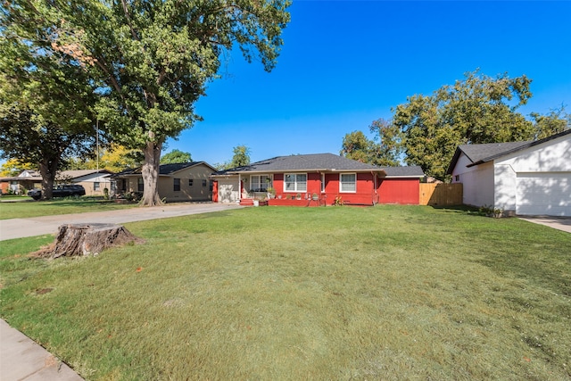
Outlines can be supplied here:
[[[420, 167], [377, 167], [332, 153], [278, 156], [214, 175], [213, 201], [247, 203], [273, 188], [270, 204], [418, 204]], [[291, 200], [292, 203], [285, 203]]]

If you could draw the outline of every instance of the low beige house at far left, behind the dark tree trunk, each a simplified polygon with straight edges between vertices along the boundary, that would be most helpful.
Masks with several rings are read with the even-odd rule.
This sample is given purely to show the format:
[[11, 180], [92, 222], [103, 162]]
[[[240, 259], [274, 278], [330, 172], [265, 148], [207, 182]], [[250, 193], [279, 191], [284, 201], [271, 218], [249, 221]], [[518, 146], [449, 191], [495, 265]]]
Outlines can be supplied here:
[[[79, 184], [86, 189], [86, 195], [103, 195], [103, 189], [112, 192], [109, 170], [62, 170], [55, 176], [56, 184]], [[13, 178], [0, 178], [0, 184], [8, 184], [2, 192], [15, 195], [25, 195], [29, 189], [42, 187], [42, 176], [38, 170], [22, 170], [20, 175]]]

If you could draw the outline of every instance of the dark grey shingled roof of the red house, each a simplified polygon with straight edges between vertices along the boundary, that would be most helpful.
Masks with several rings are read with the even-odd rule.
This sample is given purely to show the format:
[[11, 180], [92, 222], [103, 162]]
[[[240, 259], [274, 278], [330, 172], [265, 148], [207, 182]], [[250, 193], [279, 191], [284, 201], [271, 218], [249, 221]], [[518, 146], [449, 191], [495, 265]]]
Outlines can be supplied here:
[[219, 175], [232, 175], [246, 172], [274, 173], [285, 171], [376, 171], [385, 172], [389, 177], [422, 177], [420, 167], [377, 167], [357, 162], [333, 153], [298, 154], [277, 156], [261, 162], [253, 162], [244, 167], [220, 171]]

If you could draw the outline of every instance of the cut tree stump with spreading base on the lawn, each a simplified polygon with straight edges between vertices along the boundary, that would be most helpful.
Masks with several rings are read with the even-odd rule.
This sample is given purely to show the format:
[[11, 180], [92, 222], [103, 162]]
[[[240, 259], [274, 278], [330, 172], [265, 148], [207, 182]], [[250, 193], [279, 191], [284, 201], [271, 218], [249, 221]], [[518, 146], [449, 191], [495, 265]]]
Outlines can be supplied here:
[[143, 243], [126, 228], [115, 224], [62, 225], [53, 244], [30, 255], [37, 258], [97, 255], [104, 249], [120, 244]]

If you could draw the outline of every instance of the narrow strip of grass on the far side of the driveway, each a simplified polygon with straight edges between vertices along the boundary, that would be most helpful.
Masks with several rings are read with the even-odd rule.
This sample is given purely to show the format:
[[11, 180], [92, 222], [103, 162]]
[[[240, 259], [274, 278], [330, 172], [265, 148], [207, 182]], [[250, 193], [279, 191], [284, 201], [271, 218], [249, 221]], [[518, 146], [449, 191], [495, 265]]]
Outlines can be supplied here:
[[0, 219], [21, 219], [87, 211], [115, 211], [137, 206], [135, 203], [113, 203], [97, 200], [93, 197], [68, 197], [52, 201], [34, 201], [28, 196], [16, 197], [19, 199], [14, 202], [13, 197], [2, 196], [0, 201], [4, 201], [0, 203]]

